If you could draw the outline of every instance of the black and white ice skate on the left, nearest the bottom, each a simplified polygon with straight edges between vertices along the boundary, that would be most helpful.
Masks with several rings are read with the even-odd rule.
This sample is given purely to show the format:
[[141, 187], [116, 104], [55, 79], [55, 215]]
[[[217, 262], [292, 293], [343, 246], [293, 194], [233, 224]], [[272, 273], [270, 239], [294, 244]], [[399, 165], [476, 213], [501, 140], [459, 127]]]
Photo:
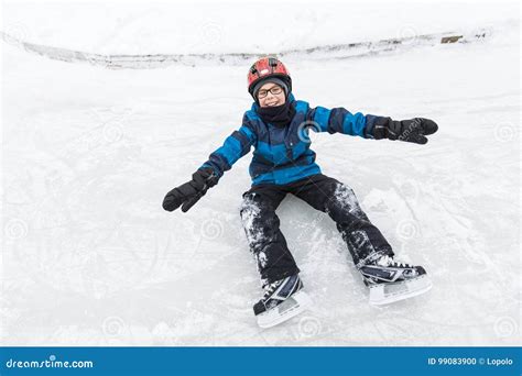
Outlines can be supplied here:
[[298, 275], [265, 286], [263, 298], [253, 306], [258, 325], [274, 327], [303, 312], [312, 300], [302, 288]]

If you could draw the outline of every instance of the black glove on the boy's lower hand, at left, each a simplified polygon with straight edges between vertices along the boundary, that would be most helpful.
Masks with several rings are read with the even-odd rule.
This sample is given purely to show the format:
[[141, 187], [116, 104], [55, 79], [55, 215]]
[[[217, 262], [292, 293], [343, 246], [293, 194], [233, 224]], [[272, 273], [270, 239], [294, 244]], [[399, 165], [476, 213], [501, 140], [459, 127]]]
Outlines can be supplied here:
[[188, 211], [218, 180], [219, 178], [211, 168], [198, 169], [192, 175], [191, 181], [182, 184], [166, 193], [163, 199], [163, 209], [173, 211], [183, 204], [182, 211]]

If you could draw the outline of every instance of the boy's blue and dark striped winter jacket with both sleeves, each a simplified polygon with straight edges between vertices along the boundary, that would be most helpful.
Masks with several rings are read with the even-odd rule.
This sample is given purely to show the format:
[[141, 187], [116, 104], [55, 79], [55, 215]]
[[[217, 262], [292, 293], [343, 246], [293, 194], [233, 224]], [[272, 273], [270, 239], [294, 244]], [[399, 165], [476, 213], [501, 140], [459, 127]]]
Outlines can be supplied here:
[[264, 123], [257, 110], [244, 112], [242, 125], [229, 135], [221, 147], [210, 154], [202, 167], [211, 167], [218, 177], [254, 147], [250, 163], [252, 186], [260, 184], [285, 185], [306, 176], [320, 174], [315, 163], [315, 153], [309, 148], [308, 132], [344, 133], [372, 139], [371, 129], [378, 117], [358, 112], [352, 114], [344, 108], [328, 110], [311, 108], [302, 100], [289, 96], [295, 115], [287, 126], [279, 128]]

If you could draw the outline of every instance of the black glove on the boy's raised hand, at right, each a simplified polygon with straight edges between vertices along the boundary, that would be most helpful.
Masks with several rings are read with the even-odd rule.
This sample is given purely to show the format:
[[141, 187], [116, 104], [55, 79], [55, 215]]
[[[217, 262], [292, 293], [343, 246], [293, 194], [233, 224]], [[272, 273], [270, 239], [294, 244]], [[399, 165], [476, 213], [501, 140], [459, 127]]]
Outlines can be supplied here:
[[433, 134], [437, 130], [437, 123], [429, 119], [414, 118], [398, 121], [391, 118], [378, 118], [370, 134], [376, 140], [389, 139], [425, 144], [427, 143], [425, 135]]

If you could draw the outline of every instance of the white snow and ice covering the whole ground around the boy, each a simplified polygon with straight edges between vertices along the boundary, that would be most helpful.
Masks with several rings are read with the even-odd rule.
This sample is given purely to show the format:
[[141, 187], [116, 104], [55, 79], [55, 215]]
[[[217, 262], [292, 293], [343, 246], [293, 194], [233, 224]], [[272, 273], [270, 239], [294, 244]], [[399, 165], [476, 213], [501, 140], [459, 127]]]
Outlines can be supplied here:
[[[301, 7], [287, 19], [300, 27], [285, 37], [264, 20], [259, 30], [236, 23], [251, 14], [248, 7], [230, 11], [232, 20], [231, 5], [184, 5], [200, 15], [198, 33], [204, 22], [219, 25], [207, 46], [191, 41], [200, 34], [186, 20], [180, 31], [188, 36], [168, 40], [175, 23], [154, 7], [140, 18], [138, 5], [115, 3], [105, 19], [65, 4], [46, 13], [24, 7], [4, 9], [4, 32], [104, 54], [261, 53], [404, 30], [492, 32], [468, 44], [285, 60], [296, 98], [312, 106], [438, 122], [424, 146], [313, 137], [324, 174], [355, 189], [396, 253], [424, 265], [434, 288], [369, 306], [334, 223], [287, 197], [278, 210], [282, 231], [315, 306], [269, 330], [252, 314], [261, 290], [238, 212], [250, 156], [188, 213], [161, 208], [166, 191], [240, 125], [251, 103], [249, 65], [110, 70], [2, 43], [3, 345], [520, 345], [518, 5]], [[113, 23], [115, 14], [133, 21]], [[99, 22], [90, 34], [89, 18]], [[267, 37], [249, 43], [260, 31]]]

